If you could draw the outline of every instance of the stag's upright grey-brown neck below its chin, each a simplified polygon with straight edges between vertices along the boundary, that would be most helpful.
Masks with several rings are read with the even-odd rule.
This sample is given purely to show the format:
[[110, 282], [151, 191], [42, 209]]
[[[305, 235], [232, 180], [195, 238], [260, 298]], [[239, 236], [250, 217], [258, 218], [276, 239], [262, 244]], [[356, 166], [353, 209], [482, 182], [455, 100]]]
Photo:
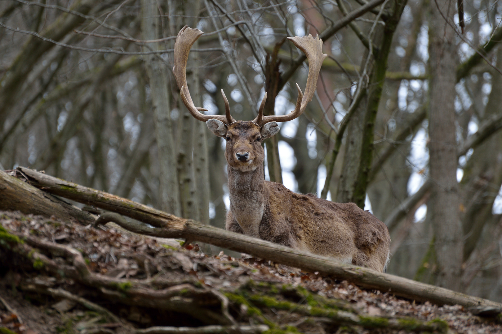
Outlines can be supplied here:
[[259, 226], [265, 211], [263, 164], [254, 171], [241, 172], [228, 166], [230, 210], [244, 234], [260, 237]]

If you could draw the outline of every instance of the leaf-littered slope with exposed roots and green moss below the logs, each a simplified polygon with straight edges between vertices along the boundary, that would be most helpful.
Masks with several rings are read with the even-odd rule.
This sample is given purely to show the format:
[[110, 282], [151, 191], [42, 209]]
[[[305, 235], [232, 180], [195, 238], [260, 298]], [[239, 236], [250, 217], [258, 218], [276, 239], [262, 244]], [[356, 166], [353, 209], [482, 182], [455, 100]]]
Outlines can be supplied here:
[[265, 324], [275, 333], [502, 333], [499, 319], [458, 305], [416, 303], [256, 258], [15, 212], [0, 212], [0, 223], [0, 332]]

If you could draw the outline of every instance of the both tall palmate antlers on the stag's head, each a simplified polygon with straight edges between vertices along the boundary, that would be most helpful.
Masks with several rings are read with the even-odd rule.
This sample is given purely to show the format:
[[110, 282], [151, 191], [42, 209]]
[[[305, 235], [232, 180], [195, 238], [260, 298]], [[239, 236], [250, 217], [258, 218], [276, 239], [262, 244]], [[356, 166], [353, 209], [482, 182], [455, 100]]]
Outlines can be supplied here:
[[[192, 98], [190, 97], [190, 92], [187, 88], [186, 66], [188, 54], [192, 45], [202, 34], [204, 33], [200, 30], [188, 28], [188, 26], [185, 26], [180, 30], [178, 37], [176, 38], [176, 43], [174, 44], [175, 65], [173, 67], [173, 74], [176, 78], [176, 83], [178, 84], [178, 87], [181, 91], [181, 99], [183, 100], [183, 103], [193, 117], [195, 117], [199, 121], [204, 122], [209, 119], [217, 119], [228, 125], [235, 122], [235, 120], [232, 118], [232, 116], [230, 116], [230, 106], [225, 94], [223, 93], [223, 90], [221, 90], [221, 94], [223, 95], [223, 100], [225, 101], [225, 116], [204, 115], [200, 113], [200, 111], [206, 111], [206, 109], [197, 108], [194, 106]], [[309, 61], [309, 75], [307, 77], [305, 94], [302, 93], [302, 90], [300, 89], [298, 84], [296, 84], [296, 88], [298, 89], [298, 99], [296, 101], [295, 110], [293, 110], [288, 115], [263, 116], [263, 109], [265, 107], [265, 101], [267, 100], [267, 93], [265, 93], [265, 96], [263, 97], [262, 103], [260, 105], [258, 116], [253, 120], [253, 123], [258, 124], [260, 127], [263, 127], [266, 123], [269, 122], [291, 121], [303, 114], [305, 108], [307, 107], [307, 104], [312, 100], [312, 97], [314, 96], [314, 92], [317, 86], [317, 77], [319, 76], [322, 62], [324, 58], [327, 57], [327, 55], [322, 53], [322, 40], [319, 39], [319, 36], [317, 35], [316, 38], [313, 38], [312, 35], [309, 34], [309, 36], [288, 37], [288, 39], [307, 56], [307, 59]]]

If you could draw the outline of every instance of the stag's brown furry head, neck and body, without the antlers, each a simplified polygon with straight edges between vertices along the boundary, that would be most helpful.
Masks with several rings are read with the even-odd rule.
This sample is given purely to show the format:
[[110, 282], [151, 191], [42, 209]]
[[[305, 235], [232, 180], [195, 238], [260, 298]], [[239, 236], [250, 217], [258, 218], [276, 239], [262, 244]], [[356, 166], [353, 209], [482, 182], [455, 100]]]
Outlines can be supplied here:
[[[227, 230], [331, 256], [344, 263], [385, 269], [391, 238], [379, 219], [354, 203], [297, 194], [282, 184], [265, 181], [261, 141], [277, 133], [277, 124], [260, 129], [253, 122], [238, 121], [226, 128], [208, 121], [208, 127], [227, 141]], [[237, 153], [247, 153], [247, 160], [239, 160]]]

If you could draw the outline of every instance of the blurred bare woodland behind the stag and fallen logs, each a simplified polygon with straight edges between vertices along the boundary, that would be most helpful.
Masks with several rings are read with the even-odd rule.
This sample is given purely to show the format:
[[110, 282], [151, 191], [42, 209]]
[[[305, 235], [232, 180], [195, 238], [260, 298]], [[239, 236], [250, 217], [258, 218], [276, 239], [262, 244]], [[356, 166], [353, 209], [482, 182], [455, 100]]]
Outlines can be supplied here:
[[0, 168], [223, 227], [224, 140], [183, 106], [176, 35], [205, 33], [195, 105], [223, 114], [223, 89], [251, 120], [265, 91], [265, 114], [294, 109], [308, 64], [285, 38], [319, 34], [317, 93], [266, 141], [266, 178], [371, 210], [388, 272], [501, 301], [502, 4], [461, 4], [465, 28], [444, 0], [4, 0]]

